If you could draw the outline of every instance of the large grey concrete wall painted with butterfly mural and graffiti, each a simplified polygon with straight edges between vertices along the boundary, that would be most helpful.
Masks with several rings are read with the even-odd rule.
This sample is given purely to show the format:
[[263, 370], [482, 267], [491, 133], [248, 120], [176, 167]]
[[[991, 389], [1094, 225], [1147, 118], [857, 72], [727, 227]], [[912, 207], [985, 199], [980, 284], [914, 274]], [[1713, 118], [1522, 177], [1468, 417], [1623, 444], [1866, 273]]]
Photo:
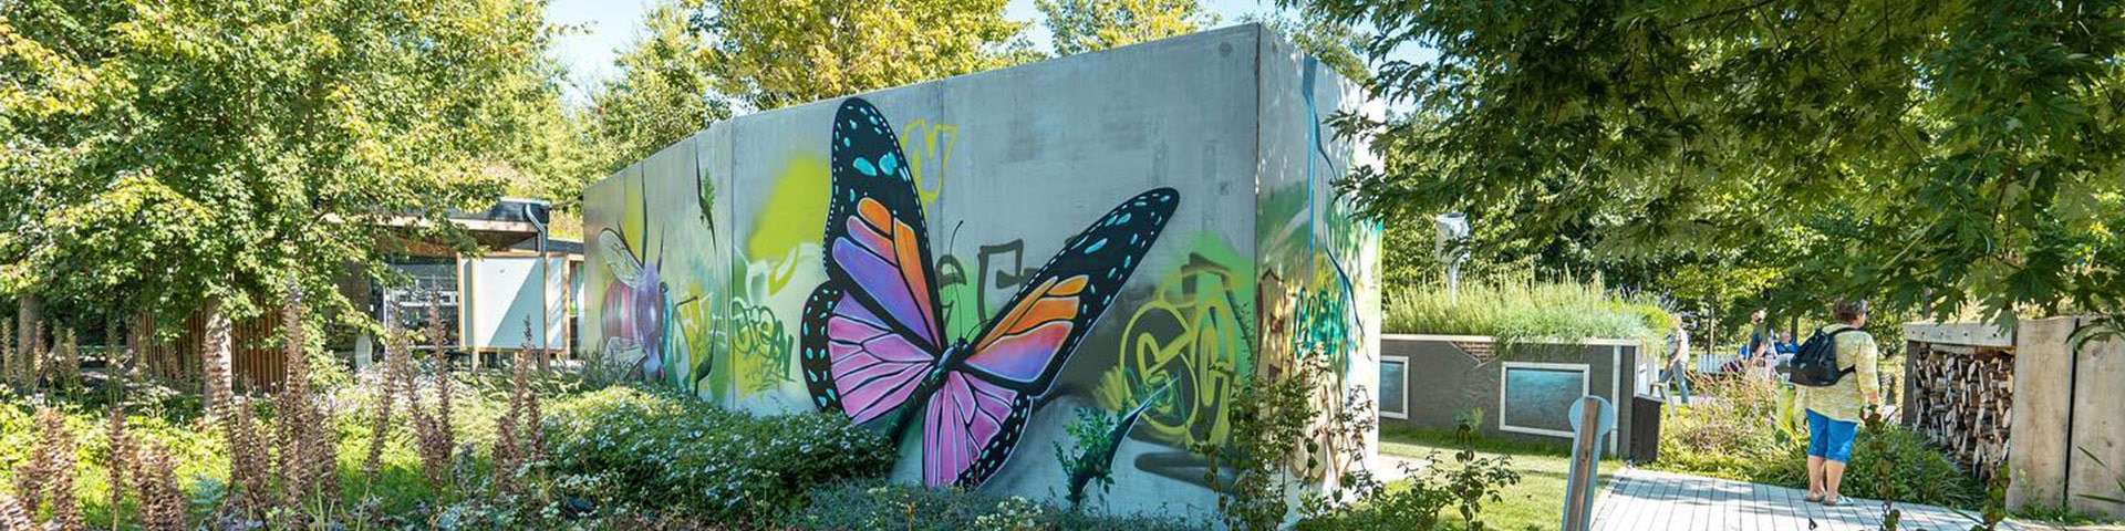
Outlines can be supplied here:
[[[1322, 125], [1362, 102], [1243, 25], [722, 121], [584, 193], [580, 338], [716, 404], [899, 429], [899, 480], [1037, 499], [1073, 486], [1054, 448], [1075, 444], [1080, 410], [1143, 406], [1094, 503], [1205, 514], [1216, 495], [1186, 448], [1230, 438], [1243, 380], [1320, 357], [1334, 391], [1373, 389], [1379, 227], [1330, 191], [1362, 149]], [[865, 282], [888, 261], [835, 251], [876, 240], [865, 227], [914, 289]], [[990, 336], [1039, 348], [999, 361]], [[899, 376], [850, 367], [926, 374], [939, 357], [935, 380], [865, 408], [869, 376]], [[958, 401], [992, 408], [899, 421]], [[935, 446], [969, 440], [992, 457]]]

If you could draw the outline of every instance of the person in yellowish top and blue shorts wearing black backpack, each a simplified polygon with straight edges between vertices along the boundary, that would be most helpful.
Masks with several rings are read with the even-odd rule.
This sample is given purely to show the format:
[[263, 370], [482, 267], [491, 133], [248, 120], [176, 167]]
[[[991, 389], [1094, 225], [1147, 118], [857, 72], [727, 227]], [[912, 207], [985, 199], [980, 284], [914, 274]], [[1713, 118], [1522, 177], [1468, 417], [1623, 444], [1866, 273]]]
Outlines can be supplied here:
[[[1838, 323], [1815, 333], [1836, 348], [1836, 370], [1842, 378], [1828, 387], [1796, 387], [1800, 401], [1808, 410], [1808, 497], [1823, 506], [1838, 506], [1838, 484], [1844, 480], [1844, 463], [1853, 457], [1853, 440], [1859, 438], [1859, 421], [1868, 406], [1881, 404], [1881, 348], [1866, 327], [1866, 302], [1838, 302], [1832, 308]], [[1817, 342], [1815, 338], [1808, 340]], [[1806, 346], [1802, 346], [1806, 357]], [[1796, 382], [1800, 382], [1796, 378]]]

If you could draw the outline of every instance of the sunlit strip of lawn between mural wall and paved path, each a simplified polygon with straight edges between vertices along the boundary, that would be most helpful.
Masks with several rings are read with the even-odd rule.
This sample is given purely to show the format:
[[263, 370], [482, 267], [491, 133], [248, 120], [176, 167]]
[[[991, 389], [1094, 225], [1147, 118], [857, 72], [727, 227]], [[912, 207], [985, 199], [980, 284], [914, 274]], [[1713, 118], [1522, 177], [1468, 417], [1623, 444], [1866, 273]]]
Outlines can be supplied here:
[[[1451, 467], [1454, 450], [1458, 448], [1460, 444], [1454, 442], [1454, 433], [1449, 431], [1422, 431], [1409, 427], [1381, 427], [1379, 431], [1381, 455], [1426, 459], [1432, 450], [1436, 450], [1441, 465]], [[1564, 520], [1564, 480], [1570, 474], [1570, 452], [1543, 444], [1500, 440], [1477, 440], [1475, 450], [1485, 457], [1511, 457], [1511, 469], [1519, 474], [1519, 482], [1504, 489], [1502, 503], [1483, 506], [1483, 514], [1479, 518], [1485, 529], [1558, 529]], [[1609, 476], [1621, 465], [1621, 459], [1602, 459], [1602, 484], [1606, 484]], [[1447, 512], [1451, 512], [1451, 508]], [[1445, 520], [1460, 525], [1458, 514]]]

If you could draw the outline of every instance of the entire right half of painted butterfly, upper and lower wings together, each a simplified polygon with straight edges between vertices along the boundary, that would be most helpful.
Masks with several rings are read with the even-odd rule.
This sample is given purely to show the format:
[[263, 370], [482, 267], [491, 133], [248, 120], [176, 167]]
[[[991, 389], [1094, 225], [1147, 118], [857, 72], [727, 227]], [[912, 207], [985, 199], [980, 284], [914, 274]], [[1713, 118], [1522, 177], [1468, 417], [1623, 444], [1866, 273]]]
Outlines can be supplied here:
[[997, 314], [929, 399], [922, 480], [978, 486], [1018, 448], [1033, 397], [1107, 310], [1179, 204], [1173, 189], [1145, 191], [1062, 244]]

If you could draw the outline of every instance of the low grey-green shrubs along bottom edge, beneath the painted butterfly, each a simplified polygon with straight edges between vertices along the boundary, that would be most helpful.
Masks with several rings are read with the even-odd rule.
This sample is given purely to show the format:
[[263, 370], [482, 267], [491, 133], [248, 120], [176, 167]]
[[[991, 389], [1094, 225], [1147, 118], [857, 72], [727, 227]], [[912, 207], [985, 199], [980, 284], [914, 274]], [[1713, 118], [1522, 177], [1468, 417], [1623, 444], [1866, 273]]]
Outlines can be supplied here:
[[1058, 510], [1024, 497], [999, 497], [914, 484], [842, 482], [812, 491], [812, 506], [782, 520], [795, 529], [1203, 529], [1158, 516]]

